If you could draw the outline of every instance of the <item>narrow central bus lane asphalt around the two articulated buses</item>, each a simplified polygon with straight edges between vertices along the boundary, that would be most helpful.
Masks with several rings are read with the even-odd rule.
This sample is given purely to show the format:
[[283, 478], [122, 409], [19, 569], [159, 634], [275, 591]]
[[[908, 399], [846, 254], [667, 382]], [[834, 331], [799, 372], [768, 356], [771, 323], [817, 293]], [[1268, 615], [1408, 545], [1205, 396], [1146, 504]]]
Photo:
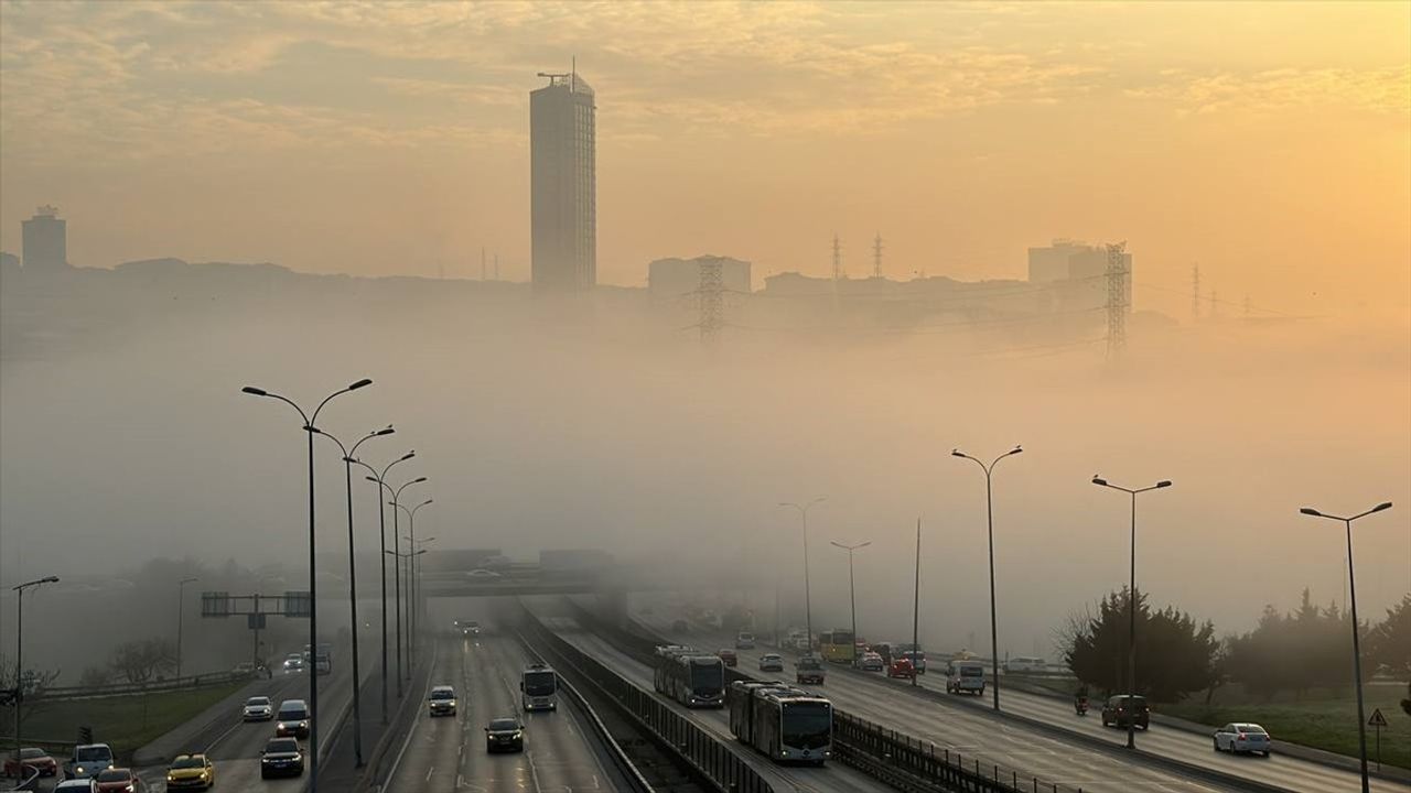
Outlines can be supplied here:
[[[636, 686], [648, 691], [652, 690], [652, 670], [648, 666], [625, 655], [622, 650], [612, 646], [607, 639], [581, 629], [571, 617], [563, 615], [560, 611], [562, 607], [556, 608], [553, 598], [525, 598], [525, 605], [539, 615], [545, 626], [552, 629], [555, 634], [563, 636], [576, 648], [591, 655], [597, 660], [608, 665], [610, 669], [622, 674]], [[744, 758], [751, 768], [761, 772], [777, 793], [786, 793], [790, 790], [800, 793], [858, 793], [869, 790], [880, 793], [892, 790], [871, 776], [865, 776], [835, 761], [830, 762], [824, 768], [775, 765], [763, 755], [759, 755], [749, 746], [735, 741], [735, 737], [729, 731], [728, 711], [691, 710], [672, 700], [663, 698], [663, 701], [667, 701], [673, 710], [686, 714], [691, 718], [691, 721], [713, 732], [727, 745], [735, 748], [739, 756]]]

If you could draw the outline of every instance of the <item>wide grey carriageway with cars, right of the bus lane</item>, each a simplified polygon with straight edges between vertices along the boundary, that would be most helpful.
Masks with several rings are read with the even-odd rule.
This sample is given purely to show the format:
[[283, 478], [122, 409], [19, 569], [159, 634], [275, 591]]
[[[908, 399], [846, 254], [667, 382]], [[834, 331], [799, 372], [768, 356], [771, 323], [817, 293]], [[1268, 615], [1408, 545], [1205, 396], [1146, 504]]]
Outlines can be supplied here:
[[[722, 632], [673, 634], [663, 622], [669, 618], [660, 617], [662, 608], [659, 605], [656, 611], [658, 615], [648, 619], [646, 624], [673, 642], [694, 645], [710, 652], [734, 646], [734, 635]], [[738, 650], [741, 669], [759, 676], [758, 659], [765, 652], [772, 650], [773, 648], [765, 646], [755, 650]], [[786, 669], [792, 670], [794, 653], [783, 650], [783, 655], [789, 659]], [[919, 683], [921, 687], [944, 696], [945, 679], [938, 674], [940, 662], [931, 660], [931, 667], [930, 674], [919, 677]], [[765, 673], [765, 676], [770, 674], [775, 673]], [[985, 698], [944, 696], [945, 701], [938, 703], [909, 690], [910, 680], [888, 679], [882, 673], [854, 672], [831, 665], [824, 687], [834, 703], [848, 713], [933, 741], [938, 746], [959, 751], [967, 758], [979, 756], [982, 766], [999, 763], [1038, 776], [1041, 782], [1081, 786], [1084, 790], [1096, 792], [1240, 789], [1237, 783], [1222, 787], [1205, 780], [1187, 779], [1140, 761], [1126, 761], [1110, 752], [1077, 741], [1060, 739], [1044, 731], [999, 718], [989, 708], [988, 690]], [[1072, 706], [1060, 698], [1003, 690], [1000, 700], [1006, 711], [1023, 714], [1065, 731], [1110, 741], [1116, 746], [1126, 744], [1125, 731], [1102, 727], [1096, 703], [1086, 717], [1078, 717], [1074, 714]], [[1216, 753], [1211, 748], [1209, 738], [1160, 724], [1153, 724], [1150, 731], [1137, 731], [1137, 746], [1165, 758], [1298, 793], [1360, 790], [1360, 779], [1353, 772], [1278, 753], [1271, 758]], [[1405, 793], [1407, 787], [1373, 779], [1371, 790], [1374, 793]]]

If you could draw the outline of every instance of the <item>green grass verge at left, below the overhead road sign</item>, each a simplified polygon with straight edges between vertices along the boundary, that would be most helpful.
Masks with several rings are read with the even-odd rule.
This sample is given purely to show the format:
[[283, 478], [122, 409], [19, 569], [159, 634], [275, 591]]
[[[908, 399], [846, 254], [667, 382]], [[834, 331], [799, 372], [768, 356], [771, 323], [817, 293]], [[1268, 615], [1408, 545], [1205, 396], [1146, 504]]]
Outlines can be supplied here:
[[79, 727], [92, 727], [93, 739], [109, 744], [119, 756], [152, 742], [200, 711], [238, 691], [230, 683], [189, 691], [95, 700], [40, 701], [24, 720], [24, 734], [41, 739], [78, 741]]

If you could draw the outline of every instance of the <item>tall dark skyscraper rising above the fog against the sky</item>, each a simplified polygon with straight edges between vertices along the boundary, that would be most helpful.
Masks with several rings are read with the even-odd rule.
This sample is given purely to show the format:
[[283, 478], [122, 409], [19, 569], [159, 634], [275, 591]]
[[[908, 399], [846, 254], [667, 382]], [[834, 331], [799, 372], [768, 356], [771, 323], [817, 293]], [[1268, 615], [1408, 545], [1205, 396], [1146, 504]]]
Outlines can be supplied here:
[[597, 140], [593, 89], [577, 71], [529, 92], [531, 244], [536, 293], [598, 279]]

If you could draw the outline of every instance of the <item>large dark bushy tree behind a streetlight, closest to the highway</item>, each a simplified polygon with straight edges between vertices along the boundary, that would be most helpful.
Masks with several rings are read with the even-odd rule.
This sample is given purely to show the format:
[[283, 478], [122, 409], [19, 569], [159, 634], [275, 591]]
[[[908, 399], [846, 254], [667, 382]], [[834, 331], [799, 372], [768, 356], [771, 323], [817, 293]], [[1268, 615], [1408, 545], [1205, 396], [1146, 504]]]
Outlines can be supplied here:
[[1079, 680], [1113, 693], [1144, 694], [1157, 701], [1177, 701], [1191, 691], [1209, 689], [1219, 679], [1221, 643], [1215, 625], [1197, 624], [1189, 614], [1165, 607], [1151, 611], [1136, 595], [1137, 680], [1127, 682], [1127, 588], [1108, 594], [1098, 614], [1074, 619], [1064, 634], [1064, 660]]

